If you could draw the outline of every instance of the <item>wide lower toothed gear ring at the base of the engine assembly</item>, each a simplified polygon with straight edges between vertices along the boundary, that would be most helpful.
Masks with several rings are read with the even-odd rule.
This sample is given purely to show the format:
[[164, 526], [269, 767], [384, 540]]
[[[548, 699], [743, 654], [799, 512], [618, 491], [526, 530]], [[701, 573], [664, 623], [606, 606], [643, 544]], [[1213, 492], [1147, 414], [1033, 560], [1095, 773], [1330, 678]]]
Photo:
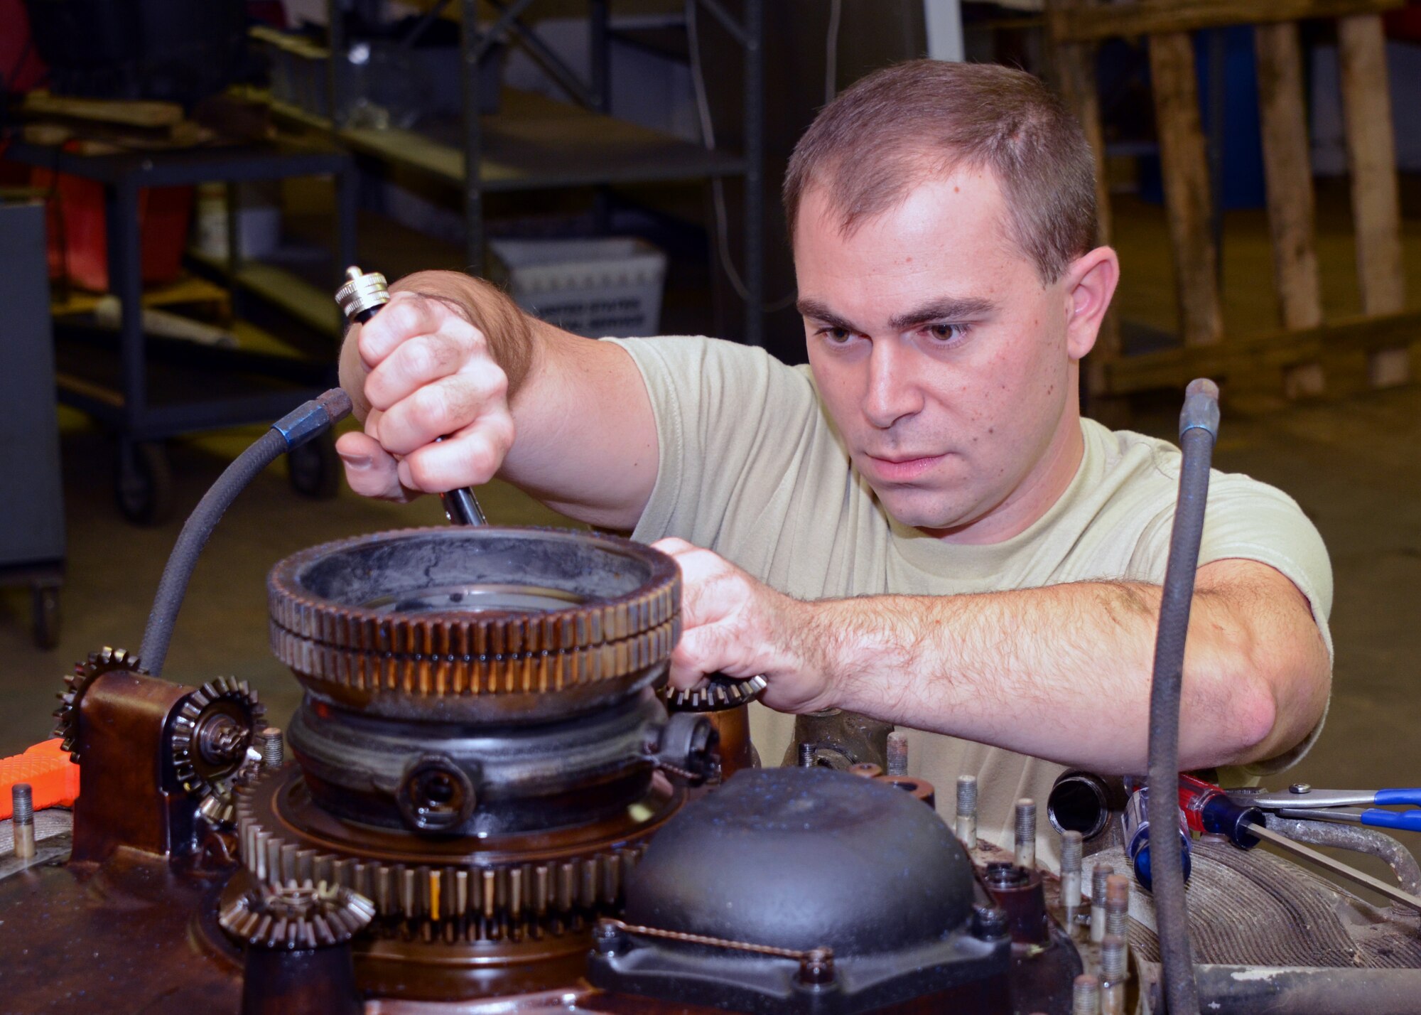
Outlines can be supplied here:
[[237, 788], [242, 861], [260, 884], [327, 881], [429, 940], [561, 934], [617, 913], [647, 839], [684, 790], [654, 788], [620, 817], [557, 832], [412, 840], [323, 812], [294, 766]]

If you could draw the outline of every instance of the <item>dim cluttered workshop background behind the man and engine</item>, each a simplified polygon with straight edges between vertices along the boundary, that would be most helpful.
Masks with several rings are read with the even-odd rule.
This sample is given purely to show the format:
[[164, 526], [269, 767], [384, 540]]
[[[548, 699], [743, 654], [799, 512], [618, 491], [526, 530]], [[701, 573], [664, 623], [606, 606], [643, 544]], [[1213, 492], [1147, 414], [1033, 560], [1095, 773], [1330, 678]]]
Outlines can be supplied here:
[[[1219, 380], [1218, 466], [1327, 542], [1333, 702], [1290, 778], [1414, 785], [1421, 7], [1131, 7], [0, 0], [0, 755], [48, 735], [75, 661], [136, 648], [203, 490], [333, 382], [347, 264], [801, 361], [784, 162], [836, 90], [931, 54], [1037, 72], [1087, 125], [1124, 266], [1088, 411], [1169, 436], [1188, 378]], [[273, 466], [198, 564], [168, 675], [247, 680], [283, 722], [270, 564], [441, 522], [354, 496], [330, 442]]]

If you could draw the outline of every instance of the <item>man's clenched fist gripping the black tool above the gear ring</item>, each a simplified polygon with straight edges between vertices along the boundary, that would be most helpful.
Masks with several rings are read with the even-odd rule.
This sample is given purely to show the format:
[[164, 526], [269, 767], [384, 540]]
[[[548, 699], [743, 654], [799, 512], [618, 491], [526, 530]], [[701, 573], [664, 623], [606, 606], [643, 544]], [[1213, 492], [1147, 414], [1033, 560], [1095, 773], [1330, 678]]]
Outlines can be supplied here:
[[513, 446], [513, 415], [485, 334], [445, 301], [408, 291], [355, 327], [365, 432], [335, 444], [351, 489], [405, 500], [492, 479]]

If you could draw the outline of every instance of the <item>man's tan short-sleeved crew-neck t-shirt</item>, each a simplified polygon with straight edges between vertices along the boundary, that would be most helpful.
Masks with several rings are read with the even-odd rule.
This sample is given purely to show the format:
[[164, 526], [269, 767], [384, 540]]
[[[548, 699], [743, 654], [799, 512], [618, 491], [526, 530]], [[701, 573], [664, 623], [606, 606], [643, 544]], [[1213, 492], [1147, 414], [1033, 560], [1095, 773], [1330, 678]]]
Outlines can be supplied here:
[[[634, 539], [679, 536], [806, 600], [1164, 580], [1179, 482], [1179, 451], [1165, 441], [1084, 419], [1080, 469], [1042, 519], [990, 546], [944, 543], [888, 517], [850, 466], [807, 367], [713, 338], [611, 341], [641, 370], [661, 442], [657, 485]], [[1259, 560], [1292, 579], [1331, 652], [1327, 550], [1292, 498], [1215, 471], [1199, 563], [1226, 557]], [[753, 708], [752, 736], [766, 761], [784, 755], [793, 728], [794, 716]], [[1232, 776], [1287, 768], [1320, 728], [1286, 755]], [[1012, 842], [1016, 799], [1044, 807], [1061, 770], [1012, 751], [909, 732], [909, 772], [938, 788], [949, 819], [956, 776], [976, 775], [980, 834], [1003, 846]], [[1054, 857], [1054, 839], [1042, 822], [1044, 859]]]

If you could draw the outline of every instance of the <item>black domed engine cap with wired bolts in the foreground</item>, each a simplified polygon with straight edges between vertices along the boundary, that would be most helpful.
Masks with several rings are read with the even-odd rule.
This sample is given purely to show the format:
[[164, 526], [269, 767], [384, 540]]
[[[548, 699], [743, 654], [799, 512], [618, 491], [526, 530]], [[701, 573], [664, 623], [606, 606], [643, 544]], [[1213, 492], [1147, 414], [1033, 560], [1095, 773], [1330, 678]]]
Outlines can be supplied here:
[[[651, 842], [622, 933], [598, 937], [590, 975], [747, 1012], [847, 1015], [929, 995], [992, 1011], [1010, 1004], [1010, 944], [973, 921], [982, 901], [966, 853], [912, 795], [828, 769], [743, 770]], [[826, 950], [831, 972], [807, 975]]]

